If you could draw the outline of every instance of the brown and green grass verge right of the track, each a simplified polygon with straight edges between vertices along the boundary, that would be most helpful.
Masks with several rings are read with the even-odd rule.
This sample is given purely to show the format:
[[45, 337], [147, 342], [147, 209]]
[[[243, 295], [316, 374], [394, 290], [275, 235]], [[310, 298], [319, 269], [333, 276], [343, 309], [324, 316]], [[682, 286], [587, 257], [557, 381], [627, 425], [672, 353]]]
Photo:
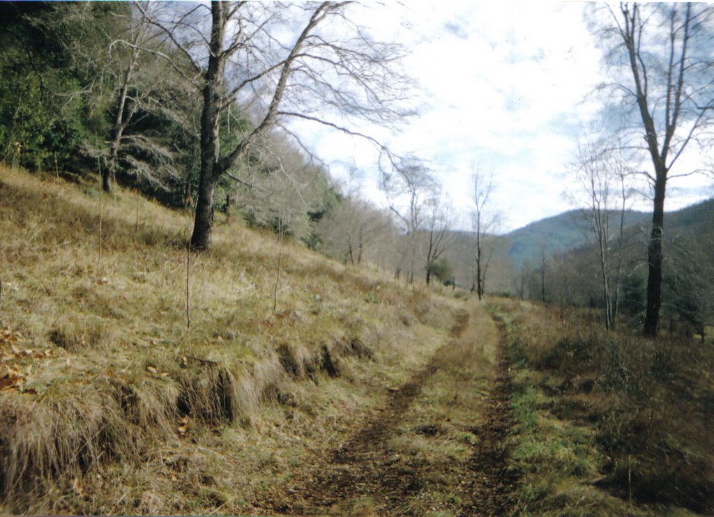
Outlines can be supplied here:
[[522, 511], [714, 510], [710, 344], [608, 335], [582, 309], [503, 300], [496, 312], [518, 367]]

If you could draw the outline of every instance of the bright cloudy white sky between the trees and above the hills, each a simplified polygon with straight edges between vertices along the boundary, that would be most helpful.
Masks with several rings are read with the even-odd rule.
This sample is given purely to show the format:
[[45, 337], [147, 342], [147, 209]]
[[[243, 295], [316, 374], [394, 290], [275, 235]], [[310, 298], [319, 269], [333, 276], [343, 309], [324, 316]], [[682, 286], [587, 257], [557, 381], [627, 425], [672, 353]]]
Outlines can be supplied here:
[[[426, 161], [448, 193], [455, 227], [470, 229], [477, 170], [492, 178], [500, 232], [575, 208], [563, 193], [575, 183], [578, 140], [598, 117], [600, 103], [588, 94], [604, 78], [584, 7], [410, 0], [356, 13], [376, 37], [408, 48], [401, 65], [416, 79], [420, 110], [388, 145]], [[370, 144], [324, 129], [300, 133], [333, 178], [346, 183], [356, 165], [363, 195], [386, 205]], [[701, 175], [673, 182], [666, 208], [711, 197], [712, 183]], [[633, 208], [648, 210], [650, 202], [640, 197]]]

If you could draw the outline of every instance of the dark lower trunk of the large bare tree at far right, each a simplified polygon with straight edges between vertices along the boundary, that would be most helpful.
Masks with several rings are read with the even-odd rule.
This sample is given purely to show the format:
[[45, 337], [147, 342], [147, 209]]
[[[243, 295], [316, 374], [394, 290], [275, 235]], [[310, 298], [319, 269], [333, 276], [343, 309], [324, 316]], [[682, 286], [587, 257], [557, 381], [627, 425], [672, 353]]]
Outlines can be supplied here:
[[655, 182], [655, 201], [652, 211], [652, 232], [647, 247], [647, 312], [643, 335], [657, 337], [662, 306], [662, 238], [665, 218], [665, 187], [667, 170], [658, 168]]

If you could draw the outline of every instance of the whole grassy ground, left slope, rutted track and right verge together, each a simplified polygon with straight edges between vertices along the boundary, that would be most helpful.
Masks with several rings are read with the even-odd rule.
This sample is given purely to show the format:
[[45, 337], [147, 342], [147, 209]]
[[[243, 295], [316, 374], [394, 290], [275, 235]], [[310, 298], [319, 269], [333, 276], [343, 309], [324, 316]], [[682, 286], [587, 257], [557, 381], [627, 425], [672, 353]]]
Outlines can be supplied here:
[[188, 260], [191, 214], [96, 187], [0, 168], [0, 513], [712, 510], [710, 339], [234, 220]]

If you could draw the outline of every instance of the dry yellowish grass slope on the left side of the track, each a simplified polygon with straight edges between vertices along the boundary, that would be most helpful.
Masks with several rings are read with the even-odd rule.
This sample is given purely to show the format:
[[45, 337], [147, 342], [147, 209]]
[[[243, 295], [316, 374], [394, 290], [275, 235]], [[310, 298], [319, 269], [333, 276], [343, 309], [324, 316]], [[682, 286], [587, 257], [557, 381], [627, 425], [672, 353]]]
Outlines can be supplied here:
[[291, 243], [273, 312], [276, 239], [220, 217], [188, 329], [190, 223], [0, 168], [0, 511], [249, 511], [448, 332], [438, 297]]

